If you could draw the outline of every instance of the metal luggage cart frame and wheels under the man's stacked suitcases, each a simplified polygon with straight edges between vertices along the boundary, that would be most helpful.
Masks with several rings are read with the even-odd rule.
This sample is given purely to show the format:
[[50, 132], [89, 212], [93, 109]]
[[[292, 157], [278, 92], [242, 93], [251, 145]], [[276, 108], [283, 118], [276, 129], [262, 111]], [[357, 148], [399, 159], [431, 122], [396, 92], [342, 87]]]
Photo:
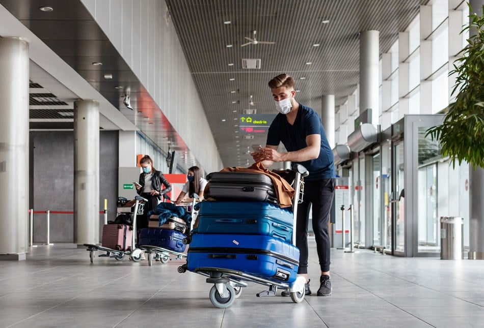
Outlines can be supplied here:
[[[294, 179], [294, 198], [293, 198], [293, 227], [292, 227], [292, 244], [295, 245], [295, 228], [298, 213], [298, 204], [302, 202], [304, 195], [303, 177], [309, 174], [308, 170], [300, 165], [295, 164], [292, 167], [295, 172]], [[187, 271], [187, 264], [178, 267], [179, 273]], [[301, 303], [305, 296], [306, 279], [302, 275], [298, 275], [292, 283], [284, 283], [259, 277], [245, 272], [223, 269], [221, 267], [198, 267], [194, 270], [195, 273], [208, 277], [207, 283], [213, 284], [209, 292], [210, 302], [217, 308], [230, 307], [235, 299], [237, 299], [242, 290], [241, 287], [247, 287], [247, 282], [255, 282], [261, 285], [268, 286], [268, 290], [261, 291], [256, 294], [257, 297], [275, 296], [277, 289], [288, 289], [290, 291], [291, 300], [294, 303]]]

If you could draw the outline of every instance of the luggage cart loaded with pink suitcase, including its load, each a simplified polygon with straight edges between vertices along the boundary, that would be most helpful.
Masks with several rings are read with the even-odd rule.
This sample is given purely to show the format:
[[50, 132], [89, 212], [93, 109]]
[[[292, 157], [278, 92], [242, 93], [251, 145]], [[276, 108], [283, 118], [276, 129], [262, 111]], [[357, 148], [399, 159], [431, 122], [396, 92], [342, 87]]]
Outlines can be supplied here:
[[[94, 252], [104, 251], [105, 254], [99, 254], [98, 257], [115, 258], [118, 261], [124, 259], [126, 255], [130, 257], [133, 262], [139, 262], [142, 256], [142, 250], [136, 248], [136, 218], [138, 215], [144, 213], [144, 203], [148, 200], [141, 197], [135, 197], [133, 206], [125, 206], [129, 212], [122, 211], [122, 215], [129, 215], [132, 217], [132, 225], [126, 223], [112, 223], [104, 224], [102, 227], [102, 243], [101, 245], [84, 244], [89, 252], [91, 263], [94, 262]], [[128, 204], [129, 205], [129, 204]], [[119, 212], [119, 207], [118, 207]]]

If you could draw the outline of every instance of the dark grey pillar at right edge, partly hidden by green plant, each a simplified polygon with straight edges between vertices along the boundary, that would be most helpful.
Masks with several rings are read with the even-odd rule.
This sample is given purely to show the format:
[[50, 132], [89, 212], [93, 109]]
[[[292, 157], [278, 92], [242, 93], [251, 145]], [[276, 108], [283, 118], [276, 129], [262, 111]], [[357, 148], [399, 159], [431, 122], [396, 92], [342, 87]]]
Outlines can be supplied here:
[[[474, 13], [482, 16], [484, 0], [471, 0], [470, 5]], [[470, 35], [476, 31], [471, 29]], [[484, 259], [484, 168], [469, 170], [469, 198], [470, 198], [470, 227], [469, 227], [469, 258]]]

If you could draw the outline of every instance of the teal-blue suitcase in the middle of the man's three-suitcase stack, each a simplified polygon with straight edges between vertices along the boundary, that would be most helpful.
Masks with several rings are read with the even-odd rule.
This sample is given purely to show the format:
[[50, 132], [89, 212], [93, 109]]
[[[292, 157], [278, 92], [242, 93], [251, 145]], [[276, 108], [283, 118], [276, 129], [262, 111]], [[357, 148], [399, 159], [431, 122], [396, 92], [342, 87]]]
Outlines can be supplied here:
[[261, 234], [290, 243], [292, 212], [261, 201], [203, 201], [197, 233]]

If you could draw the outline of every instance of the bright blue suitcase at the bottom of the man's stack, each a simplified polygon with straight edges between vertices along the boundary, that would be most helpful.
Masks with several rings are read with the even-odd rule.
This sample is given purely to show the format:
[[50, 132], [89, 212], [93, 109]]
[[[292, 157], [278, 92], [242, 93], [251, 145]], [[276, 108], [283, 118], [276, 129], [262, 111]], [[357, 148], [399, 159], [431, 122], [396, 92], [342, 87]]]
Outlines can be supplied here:
[[291, 283], [298, 275], [299, 249], [271, 236], [197, 233], [186, 261], [189, 271], [218, 267]]

